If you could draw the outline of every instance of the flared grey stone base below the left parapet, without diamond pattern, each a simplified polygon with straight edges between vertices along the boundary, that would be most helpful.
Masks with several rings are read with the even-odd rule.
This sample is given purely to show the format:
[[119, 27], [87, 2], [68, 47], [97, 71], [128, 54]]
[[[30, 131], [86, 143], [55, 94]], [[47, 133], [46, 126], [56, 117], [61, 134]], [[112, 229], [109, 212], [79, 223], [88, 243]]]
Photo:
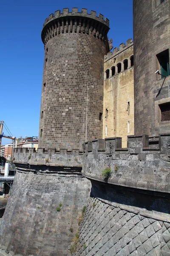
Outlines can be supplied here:
[[0, 255], [68, 256], [90, 189], [75, 174], [17, 172], [0, 226]]

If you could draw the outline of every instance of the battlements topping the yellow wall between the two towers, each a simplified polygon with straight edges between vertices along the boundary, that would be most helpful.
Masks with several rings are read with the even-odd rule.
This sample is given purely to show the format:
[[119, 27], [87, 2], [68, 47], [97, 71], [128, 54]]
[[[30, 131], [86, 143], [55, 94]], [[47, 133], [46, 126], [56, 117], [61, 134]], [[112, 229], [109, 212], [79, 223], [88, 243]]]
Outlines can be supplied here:
[[128, 49], [129, 47], [133, 46], [133, 41], [132, 38], [129, 38], [125, 43], [122, 43], [119, 45], [119, 47], [115, 47], [113, 49], [113, 52], [108, 52], [107, 55], [105, 55], [105, 61], [108, 61], [109, 59], [115, 57], [116, 55], [118, 55], [119, 53], [125, 51], [126, 49]]

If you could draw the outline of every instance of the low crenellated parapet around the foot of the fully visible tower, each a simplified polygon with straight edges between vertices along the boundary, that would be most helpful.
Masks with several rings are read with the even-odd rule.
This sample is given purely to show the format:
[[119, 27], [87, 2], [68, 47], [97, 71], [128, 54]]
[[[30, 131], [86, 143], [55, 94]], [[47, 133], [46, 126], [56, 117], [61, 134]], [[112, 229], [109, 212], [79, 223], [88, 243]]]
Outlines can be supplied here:
[[82, 167], [82, 152], [65, 148], [14, 148], [14, 163], [45, 166]]

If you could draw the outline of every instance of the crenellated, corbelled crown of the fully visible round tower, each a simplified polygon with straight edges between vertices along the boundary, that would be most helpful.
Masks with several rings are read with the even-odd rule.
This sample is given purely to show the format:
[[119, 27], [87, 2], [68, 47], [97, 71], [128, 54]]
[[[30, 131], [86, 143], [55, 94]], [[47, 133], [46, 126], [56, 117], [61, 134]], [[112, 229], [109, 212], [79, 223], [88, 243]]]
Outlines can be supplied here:
[[87, 9], [78, 12], [78, 8], [68, 8], [52, 13], [46, 18], [42, 29], [42, 42], [46, 44], [50, 38], [65, 33], [84, 33], [94, 35], [96, 38], [106, 40], [109, 30], [109, 20], [102, 14], [96, 16], [96, 12], [88, 14]]

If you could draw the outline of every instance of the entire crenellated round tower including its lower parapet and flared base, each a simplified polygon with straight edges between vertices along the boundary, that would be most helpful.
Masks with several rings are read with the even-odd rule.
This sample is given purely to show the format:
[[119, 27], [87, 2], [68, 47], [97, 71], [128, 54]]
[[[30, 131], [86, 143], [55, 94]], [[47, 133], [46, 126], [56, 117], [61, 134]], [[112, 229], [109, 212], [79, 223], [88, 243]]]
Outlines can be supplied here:
[[77, 8], [45, 20], [40, 145], [14, 149], [17, 173], [0, 226], [0, 255], [70, 254], [91, 191], [81, 173], [82, 143], [102, 137], [108, 25], [102, 15]]

